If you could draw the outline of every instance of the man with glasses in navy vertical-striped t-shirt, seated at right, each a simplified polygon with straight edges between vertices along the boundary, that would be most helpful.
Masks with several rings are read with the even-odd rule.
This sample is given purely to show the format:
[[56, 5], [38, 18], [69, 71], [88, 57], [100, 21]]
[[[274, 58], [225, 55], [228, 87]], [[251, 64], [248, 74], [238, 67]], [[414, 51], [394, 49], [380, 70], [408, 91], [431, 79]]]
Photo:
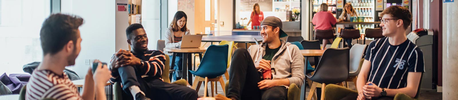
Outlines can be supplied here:
[[420, 48], [405, 35], [412, 14], [405, 7], [390, 6], [380, 16], [385, 37], [369, 44], [358, 75], [358, 94], [348, 94], [344, 100], [393, 100], [397, 94], [413, 98], [418, 92], [425, 66]]

